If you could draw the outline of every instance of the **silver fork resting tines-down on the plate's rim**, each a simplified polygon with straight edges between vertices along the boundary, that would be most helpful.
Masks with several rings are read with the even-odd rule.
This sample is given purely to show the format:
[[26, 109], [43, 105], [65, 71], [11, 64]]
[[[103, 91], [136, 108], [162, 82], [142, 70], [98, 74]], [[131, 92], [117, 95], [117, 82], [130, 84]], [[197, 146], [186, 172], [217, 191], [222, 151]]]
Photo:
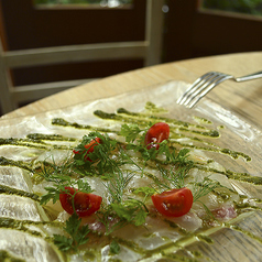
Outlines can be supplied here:
[[234, 81], [245, 81], [262, 77], [262, 72], [256, 72], [247, 76], [234, 77], [219, 72], [208, 72], [197, 78], [192, 86], [177, 99], [177, 103], [193, 108], [203, 97], [205, 97], [215, 86], [227, 79]]

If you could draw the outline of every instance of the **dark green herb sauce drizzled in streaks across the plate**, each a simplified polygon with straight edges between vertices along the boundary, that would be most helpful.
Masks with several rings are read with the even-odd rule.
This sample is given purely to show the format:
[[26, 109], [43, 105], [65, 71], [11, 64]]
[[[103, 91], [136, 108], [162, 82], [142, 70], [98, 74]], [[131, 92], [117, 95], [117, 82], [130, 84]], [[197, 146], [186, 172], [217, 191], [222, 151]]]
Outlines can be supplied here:
[[[148, 116], [144, 113], [134, 113], [134, 112], [129, 112], [125, 109], [119, 109], [118, 110], [118, 114], [116, 113], [106, 113], [102, 111], [95, 111], [94, 112], [95, 116], [102, 118], [102, 119], [108, 119], [108, 120], [114, 120], [114, 121], [120, 121], [120, 122], [137, 122], [138, 124], [141, 124], [143, 127], [148, 127], [150, 120], [157, 120], [157, 121], [165, 121], [165, 122], [170, 122], [172, 124], [176, 124], [176, 125], [181, 125], [178, 128], [179, 131], [183, 132], [190, 132], [190, 133], [195, 133], [195, 134], [199, 134], [199, 135], [204, 135], [204, 137], [210, 137], [210, 138], [218, 138], [219, 133], [216, 130], [207, 130], [205, 127], [201, 125], [196, 125], [196, 124], [192, 124], [188, 122], [183, 122], [183, 121], [178, 121], [178, 120], [172, 120], [172, 119], [166, 119], [166, 118], [161, 118], [161, 117], [152, 117], [152, 116]], [[121, 116], [119, 116], [121, 114]], [[208, 122], [208, 120], [205, 120]], [[76, 128], [76, 129], [85, 129], [85, 130], [90, 130], [90, 131], [100, 131], [100, 132], [114, 132], [114, 133], [119, 133], [118, 130], [109, 130], [109, 129], [101, 129], [101, 128], [97, 128], [97, 127], [91, 127], [91, 125], [83, 125], [83, 124], [78, 124], [78, 123], [70, 123], [64, 119], [61, 118], [56, 118], [52, 120], [52, 124], [54, 125], [61, 125], [61, 127], [72, 127], [72, 128]], [[198, 131], [198, 130], [190, 130], [188, 128], [196, 128], [196, 129], [200, 129], [204, 131]], [[172, 128], [172, 130], [175, 130], [175, 128]], [[184, 134], [182, 134], [185, 138], [188, 138]], [[207, 143], [209, 145], [216, 146], [212, 143], [209, 142], [205, 142], [198, 138], [190, 138], [190, 140], [195, 140], [198, 142], [204, 142]], [[65, 138], [63, 135], [59, 134], [52, 134], [52, 135], [45, 135], [45, 134], [29, 134], [26, 137], [25, 140], [22, 139], [2, 139], [0, 140], [0, 145], [7, 145], [7, 144], [11, 144], [11, 145], [21, 145], [21, 146], [28, 146], [28, 148], [37, 148], [37, 149], [43, 149], [46, 150], [47, 148], [45, 146], [45, 140], [50, 140], [50, 141], [69, 141], [69, 142], [75, 142], [77, 141], [74, 138]], [[36, 143], [32, 144], [32, 143]], [[179, 144], [181, 146], [184, 148], [194, 148], [194, 149], [199, 149], [199, 150], [207, 150], [207, 151], [214, 151], [214, 152], [218, 152], [218, 153], [223, 153], [227, 154], [233, 159], [238, 159], [239, 156], [245, 159], [247, 161], [251, 161], [251, 159], [245, 155], [244, 153], [241, 152], [234, 152], [231, 151], [229, 149], [207, 149], [205, 146], [196, 146], [196, 145], [190, 145], [190, 144], [184, 144], [184, 143], [179, 143], [177, 141], [173, 141], [173, 144]], [[56, 145], [52, 145], [52, 146], [56, 146]], [[67, 148], [68, 149], [68, 148]], [[12, 160], [8, 160], [3, 156], [0, 157], [0, 165], [2, 166], [17, 166], [19, 168], [23, 168], [29, 172], [34, 172], [34, 168], [32, 168], [30, 166], [30, 164], [23, 163], [22, 161], [12, 161]], [[226, 175], [228, 178], [230, 179], [237, 179], [237, 181], [242, 181], [245, 183], [251, 183], [254, 185], [262, 185], [262, 177], [258, 177], [258, 176], [251, 176], [248, 173], [236, 173], [232, 171], [217, 171], [215, 168], [209, 168], [207, 166], [204, 165], [195, 165], [196, 168], [203, 170], [205, 172], [215, 172], [215, 173], [220, 173]], [[151, 177], [153, 181], [157, 179], [157, 177], [154, 177], [152, 174], [146, 174], [149, 177]], [[153, 176], [153, 177], [152, 177]], [[0, 185], [0, 194], [14, 194], [14, 195], [19, 195], [19, 196], [24, 196], [24, 197], [30, 197], [33, 200], [39, 201], [39, 196], [36, 194], [31, 194], [31, 193], [26, 193], [23, 190], [19, 190], [19, 189], [14, 189], [8, 186], [3, 186]], [[222, 196], [221, 196], [222, 197]], [[256, 199], [256, 201], [262, 201], [261, 199]], [[177, 250], [184, 249], [186, 245], [195, 242], [195, 241], [204, 241], [206, 243], [212, 243], [212, 239], [209, 237], [210, 234], [212, 234], [214, 232], [217, 232], [218, 230], [222, 229], [222, 228], [230, 228], [232, 230], [237, 230], [237, 231], [241, 231], [242, 233], [244, 233], [245, 236], [259, 241], [262, 243], [262, 239], [250, 233], [247, 230], [242, 230], [240, 227], [233, 225], [236, 221], [248, 217], [251, 212], [248, 210], [247, 212], [241, 212], [242, 209], [244, 208], [256, 208], [253, 207], [249, 204], [236, 204], [236, 209], [239, 210], [240, 215], [238, 216], [237, 219], [232, 219], [230, 222], [227, 223], [221, 223], [220, 226], [216, 227], [216, 228], [209, 228], [209, 229], [205, 229], [201, 230], [199, 232], [194, 232], [194, 233], [188, 233], [186, 231], [183, 231], [183, 228], [181, 228], [179, 226], [172, 223], [171, 221], [166, 220], [167, 223], [170, 223], [171, 227], [176, 228], [176, 230], [178, 230], [179, 233], [184, 234], [184, 237], [182, 237], [178, 241], [176, 242], [170, 242], [167, 244], [165, 244], [164, 247], [162, 245], [161, 248], [154, 249], [154, 250], [150, 250], [146, 251], [144, 249], [141, 249], [138, 244], [135, 244], [132, 241], [127, 241], [124, 239], [121, 238], [116, 238], [116, 240], [120, 243], [123, 244], [128, 248], [130, 248], [131, 250], [139, 252], [141, 254], [143, 254], [143, 258], [150, 258], [152, 254], [156, 255], [156, 256], [163, 256], [164, 253], [171, 253], [171, 252], [176, 252]], [[259, 209], [259, 208], [258, 208]], [[0, 218], [0, 228], [13, 228], [13, 229], [18, 229], [18, 230], [22, 230], [22, 231], [26, 231], [30, 232], [30, 230], [24, 227], [24, 225], [26, 223], [31, 223], [31, 225], [44, 225], [45, 222], [32, 222], [32, 221], [18, 221], [18, 220], [13, 220], [13, 219], [4, 219], [4, 218]], [[53, 223], [53, 222], [51, 222]], [[30, 232], [32, 234], [40, 234], [40, 232], [37, 231], [32, 231]], [[163, 252], [164, 250], [164, 252]], [[6, 251], [1, 251], [1, 252], [6, 252]], [[196, 256], [199, 256], [200, 253], [196, 253]], [[1, 258], [1, 256], [0, 256]], [[10, 256], [11, 258], [11, 256]], [[15, 260], [11, 260], [11, 261], [15, 261]], [[21, 261], [21, 260], [19, 260]], [[185, 260], [186, 261], [186, 260]]]

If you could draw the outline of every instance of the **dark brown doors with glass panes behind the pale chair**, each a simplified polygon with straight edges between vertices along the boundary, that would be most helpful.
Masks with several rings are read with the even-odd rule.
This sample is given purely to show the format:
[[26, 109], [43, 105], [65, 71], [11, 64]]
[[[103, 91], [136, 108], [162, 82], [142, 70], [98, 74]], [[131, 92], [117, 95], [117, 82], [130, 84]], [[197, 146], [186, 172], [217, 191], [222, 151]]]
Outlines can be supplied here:
[[[143, 41], [146, 4], [148, 0], [0, 0], [3, 47]], [[160, 63], [262, 51], [262, 0], [165, 0], [161, 8]], [[34, 66], [12, 69], [12, 80], [30, 85], [101, 78], [143, 66], [141, 58]]]

